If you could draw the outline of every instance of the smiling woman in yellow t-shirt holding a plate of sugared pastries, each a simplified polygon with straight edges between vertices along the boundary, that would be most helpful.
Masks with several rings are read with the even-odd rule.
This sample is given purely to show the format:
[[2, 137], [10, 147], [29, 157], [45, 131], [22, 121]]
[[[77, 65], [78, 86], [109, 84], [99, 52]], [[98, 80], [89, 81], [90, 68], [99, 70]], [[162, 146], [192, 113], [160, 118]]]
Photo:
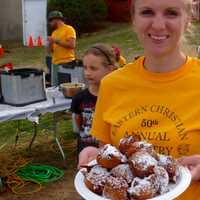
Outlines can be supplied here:
[[[161, 154], [200, 154], [200, 61], [181, 50], [191, 7], [192, 0], [132, 2], [132, 22], [144, 57], [101, 82], [91, 130], [98, 140], [118, 146], [125, 134], [140, 135]], [[79, 165], [97, 152], [84, 149]], [[179, 199], [200, 199], [200, 183], [193, 173], [197, 167], [190, 168], [194, 182]]]

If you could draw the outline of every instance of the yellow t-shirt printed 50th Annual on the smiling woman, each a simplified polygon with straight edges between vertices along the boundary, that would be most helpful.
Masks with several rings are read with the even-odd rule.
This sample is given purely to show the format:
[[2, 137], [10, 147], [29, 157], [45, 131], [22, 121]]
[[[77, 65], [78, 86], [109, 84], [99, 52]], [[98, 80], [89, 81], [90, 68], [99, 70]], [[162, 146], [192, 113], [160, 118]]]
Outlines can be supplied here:
[[[169, 73], [148, 72], [143, 62], [103, 79], [91, 134], [116, 146], [125, 134], [138, 134], [161, 154], [200, 154], [200, 60], [188, 57]], [[200, 200], [200, 182], [178, 199]]]

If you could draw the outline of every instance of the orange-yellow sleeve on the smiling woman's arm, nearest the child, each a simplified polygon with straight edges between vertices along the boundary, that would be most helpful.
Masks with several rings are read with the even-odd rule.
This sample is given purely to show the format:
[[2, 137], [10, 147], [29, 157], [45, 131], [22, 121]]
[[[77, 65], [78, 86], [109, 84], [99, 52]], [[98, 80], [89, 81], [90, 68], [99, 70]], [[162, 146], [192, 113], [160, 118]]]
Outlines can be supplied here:
[[102, 81], [97, 104], [95, 107], [95, 114], [93, 118], [92, 128], [90, 134], [97, 140], [104, 143], [111, 143], [110, 139], [110, 125], [104, 119], [104, 113], [109, 106], [109, 90], [107, 85]]

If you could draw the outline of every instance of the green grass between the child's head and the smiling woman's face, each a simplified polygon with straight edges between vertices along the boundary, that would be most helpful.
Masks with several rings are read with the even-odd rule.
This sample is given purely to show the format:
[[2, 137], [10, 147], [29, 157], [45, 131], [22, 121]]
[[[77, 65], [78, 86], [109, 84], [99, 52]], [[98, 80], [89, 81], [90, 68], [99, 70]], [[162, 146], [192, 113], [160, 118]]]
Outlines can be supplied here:
[[137, 40], [136, 34], [132, 31], [129, 24], [108, 24], [107, 29], [83, 35], [77, 43], [78, 55], [82, 55], [85, 49], [92, 44], [104, 42], [115, 44], [122, 50], [127, 60], [132, 60], [134, 55], [142, 52], [142, 48]]

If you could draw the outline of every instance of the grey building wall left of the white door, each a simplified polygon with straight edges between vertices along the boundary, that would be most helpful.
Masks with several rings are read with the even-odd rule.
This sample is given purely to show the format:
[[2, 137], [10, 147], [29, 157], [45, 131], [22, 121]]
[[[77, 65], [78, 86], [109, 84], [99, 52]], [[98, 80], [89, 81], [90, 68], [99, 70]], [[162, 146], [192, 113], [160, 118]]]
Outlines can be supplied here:
[[0, 0], [0, 41], [22, 41], [22, 0]]

